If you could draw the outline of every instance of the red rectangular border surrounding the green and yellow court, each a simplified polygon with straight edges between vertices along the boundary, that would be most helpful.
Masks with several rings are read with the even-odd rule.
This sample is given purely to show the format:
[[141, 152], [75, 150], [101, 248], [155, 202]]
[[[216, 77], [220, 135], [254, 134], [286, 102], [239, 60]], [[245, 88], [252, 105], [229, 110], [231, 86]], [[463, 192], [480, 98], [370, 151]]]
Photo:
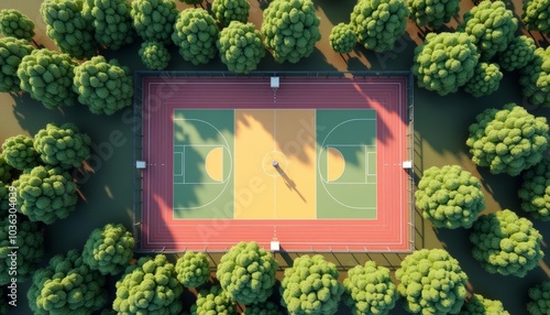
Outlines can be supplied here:
[[[144, 77], [141, 250], [226, 251], [239, 241], [285, 251], [410, 251], [407, 79]], [[178, 108], [372, 108], [377, 112], [377, 218], [176, 220], [173, 205], [173, 112]]]

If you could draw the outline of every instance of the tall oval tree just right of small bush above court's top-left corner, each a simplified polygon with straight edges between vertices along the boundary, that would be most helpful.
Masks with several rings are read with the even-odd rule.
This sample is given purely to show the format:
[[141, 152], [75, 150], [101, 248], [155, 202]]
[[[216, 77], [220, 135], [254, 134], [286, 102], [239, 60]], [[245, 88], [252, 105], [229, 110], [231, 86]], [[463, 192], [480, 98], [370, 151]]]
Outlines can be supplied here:
[[216, 21], [207, 11], [186, 9], [177, 17], [172, 41], [179, 47], [184, 61], [200, 65], [216, 56], [218, 33]]

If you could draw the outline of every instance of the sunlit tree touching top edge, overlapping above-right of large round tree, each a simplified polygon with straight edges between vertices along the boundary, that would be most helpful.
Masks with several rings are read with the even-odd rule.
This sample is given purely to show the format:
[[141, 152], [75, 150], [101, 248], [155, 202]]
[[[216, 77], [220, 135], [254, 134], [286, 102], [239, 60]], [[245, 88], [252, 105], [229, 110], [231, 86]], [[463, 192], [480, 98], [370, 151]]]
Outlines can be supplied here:
[[482, 1], [464, 14], [464, 21], [458, 30], [474, 36], [480, 58], [488, 61], [504, 52], [514, 40], [517, 19], [503, 1]]

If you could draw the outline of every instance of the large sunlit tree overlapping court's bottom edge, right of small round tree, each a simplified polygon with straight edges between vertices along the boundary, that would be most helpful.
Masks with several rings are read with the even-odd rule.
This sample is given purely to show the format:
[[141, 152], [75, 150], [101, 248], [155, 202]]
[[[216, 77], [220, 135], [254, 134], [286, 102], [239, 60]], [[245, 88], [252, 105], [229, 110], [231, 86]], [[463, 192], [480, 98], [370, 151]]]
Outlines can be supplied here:
[[256, 242], [240, 242], [221, 257], [216, 275], [232, 301], [262, 303], [273, 293], [277, 262]]

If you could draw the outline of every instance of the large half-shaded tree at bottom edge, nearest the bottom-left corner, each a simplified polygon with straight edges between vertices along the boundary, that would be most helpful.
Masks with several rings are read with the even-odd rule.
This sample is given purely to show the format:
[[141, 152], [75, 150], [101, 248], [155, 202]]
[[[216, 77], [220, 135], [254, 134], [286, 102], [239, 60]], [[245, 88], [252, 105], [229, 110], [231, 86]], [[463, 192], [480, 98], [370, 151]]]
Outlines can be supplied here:
[[107, 303], [105, 278], [92, 271], [78, 250], [50, 260], [33, 275], [26, 297], [35, 315], [92, 314]]

